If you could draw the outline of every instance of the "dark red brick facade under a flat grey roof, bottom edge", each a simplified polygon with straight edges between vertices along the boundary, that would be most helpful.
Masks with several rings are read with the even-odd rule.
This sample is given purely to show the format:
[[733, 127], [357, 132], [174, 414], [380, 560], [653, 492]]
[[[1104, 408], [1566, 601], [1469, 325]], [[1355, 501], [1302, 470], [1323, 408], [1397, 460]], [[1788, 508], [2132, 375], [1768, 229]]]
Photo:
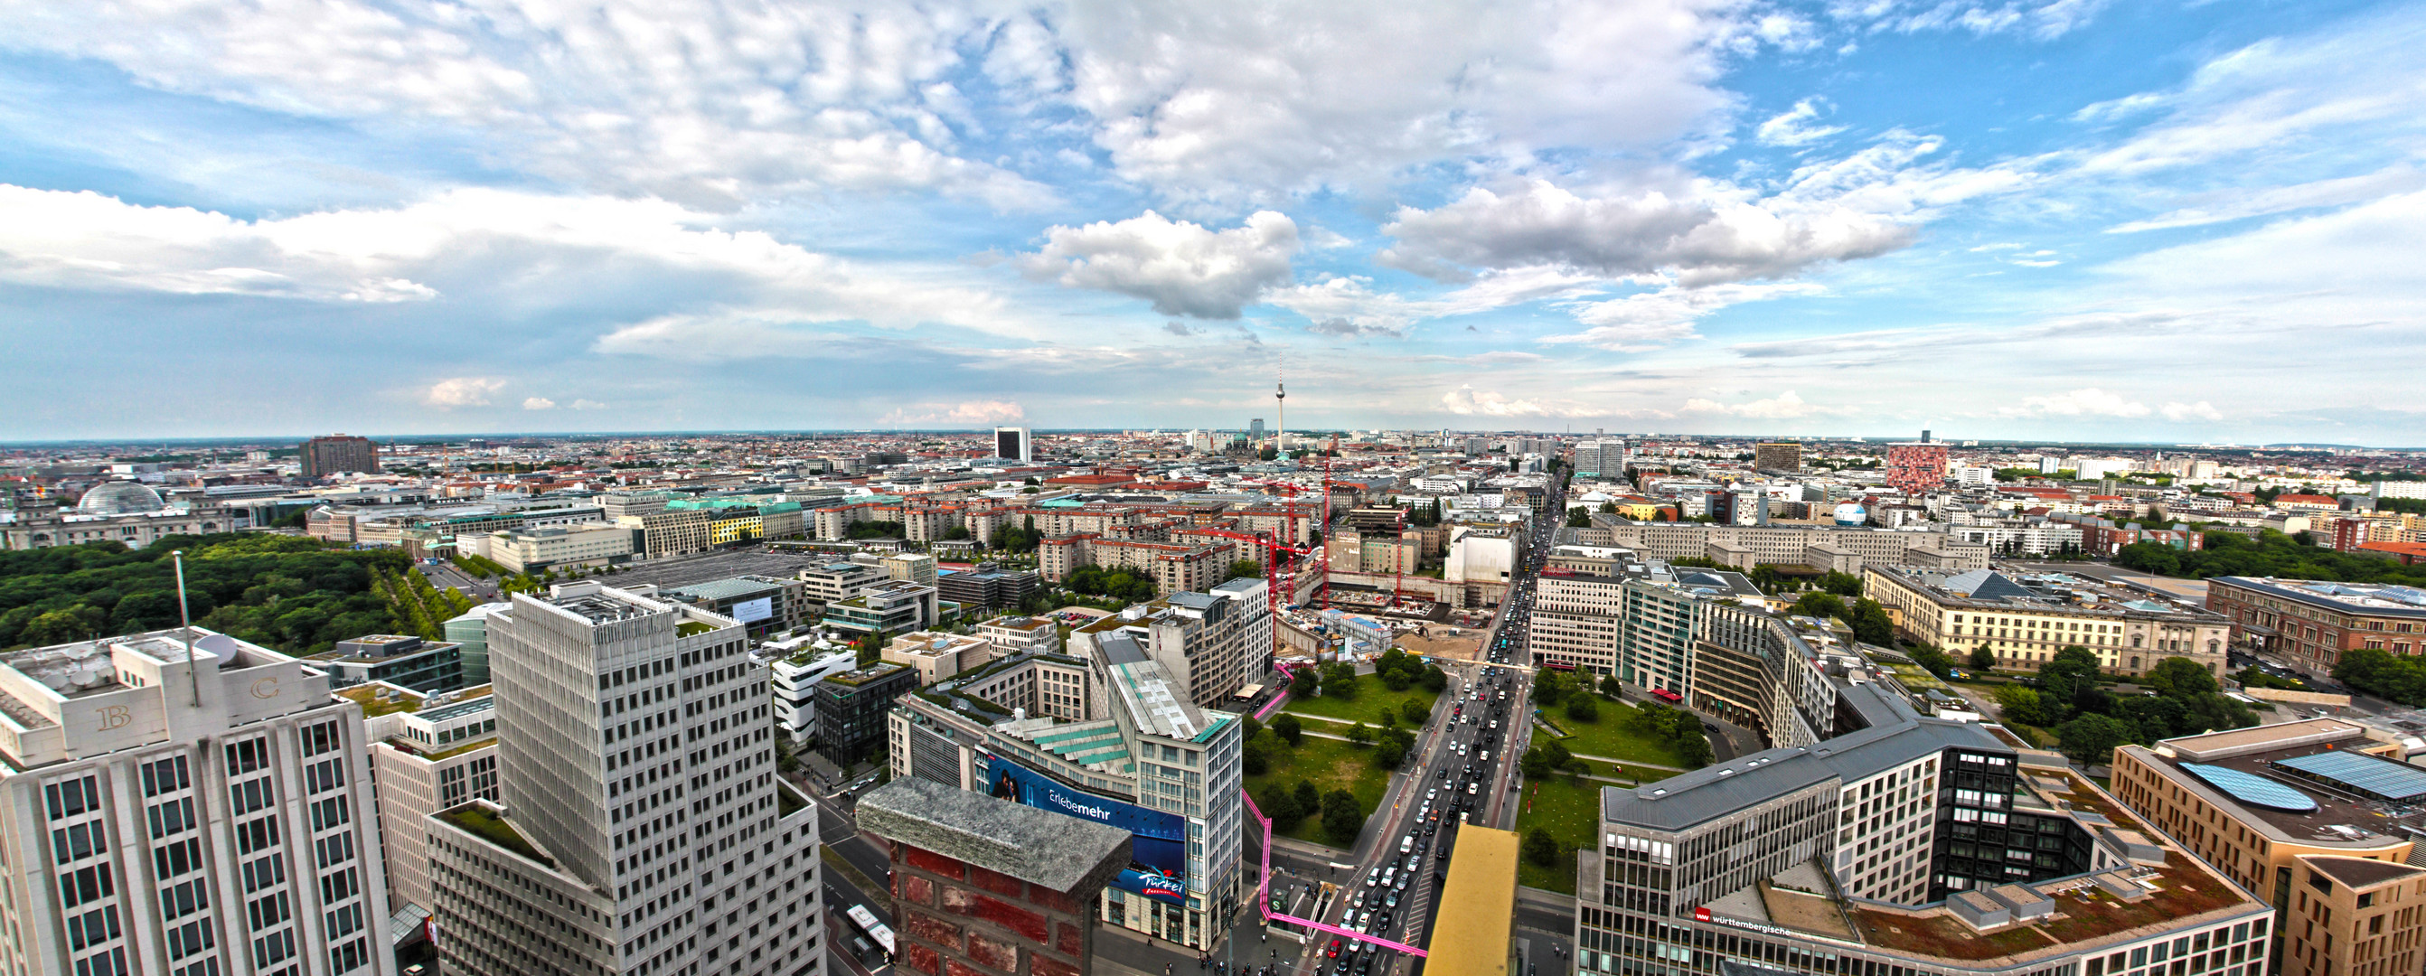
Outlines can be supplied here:
[[1094, 961], [1084, 908], [1099, 891], [1053, 891], [893, 842], [900, 964], [924, 976], [1080, 976]]

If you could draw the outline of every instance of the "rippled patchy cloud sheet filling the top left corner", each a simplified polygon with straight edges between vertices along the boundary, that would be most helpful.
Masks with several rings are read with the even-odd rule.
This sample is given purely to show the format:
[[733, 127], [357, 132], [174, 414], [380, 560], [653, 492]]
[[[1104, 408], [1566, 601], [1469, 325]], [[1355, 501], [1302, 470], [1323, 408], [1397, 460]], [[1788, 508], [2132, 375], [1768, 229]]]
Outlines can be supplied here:
[[143, 85], [371, 129], [463, 131], [488, 155], [611, 194], [733, 206], [793, 189], [1053, 194], [958, 155], [944, 83], [995, 17], [883, 2], [597, 5], [192, 0], [10, 5], [0, 46], [107, 61]]

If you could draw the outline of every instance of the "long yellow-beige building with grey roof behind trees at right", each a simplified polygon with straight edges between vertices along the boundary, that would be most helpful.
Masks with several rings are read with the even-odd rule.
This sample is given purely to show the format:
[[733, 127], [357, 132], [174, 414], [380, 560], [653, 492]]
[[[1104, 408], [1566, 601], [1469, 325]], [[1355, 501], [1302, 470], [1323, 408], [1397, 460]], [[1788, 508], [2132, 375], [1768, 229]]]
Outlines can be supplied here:
[[2111, 675], [2140, 675], [2164, 658], [2191, 658], [2222, 675], [2232, 639], [2232, 619], [2222, 614], [2072, 573], [1870, 566], [1863, 583], [1902, 634], [1948, 653], [1984, 646], [1999, 668], [2038, 668], [2055, 651], [2082, 646]]

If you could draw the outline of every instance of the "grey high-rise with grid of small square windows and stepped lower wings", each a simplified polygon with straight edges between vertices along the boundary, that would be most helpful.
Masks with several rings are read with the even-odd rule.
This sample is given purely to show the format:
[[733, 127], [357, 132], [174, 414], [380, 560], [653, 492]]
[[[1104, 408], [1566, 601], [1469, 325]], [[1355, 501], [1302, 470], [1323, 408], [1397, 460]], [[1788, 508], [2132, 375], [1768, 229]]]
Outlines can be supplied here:
[[497, 794], [429, 816], [449, 974], [822, 969], [815, 806], [740, 622], [599, 583], [488, 617]]

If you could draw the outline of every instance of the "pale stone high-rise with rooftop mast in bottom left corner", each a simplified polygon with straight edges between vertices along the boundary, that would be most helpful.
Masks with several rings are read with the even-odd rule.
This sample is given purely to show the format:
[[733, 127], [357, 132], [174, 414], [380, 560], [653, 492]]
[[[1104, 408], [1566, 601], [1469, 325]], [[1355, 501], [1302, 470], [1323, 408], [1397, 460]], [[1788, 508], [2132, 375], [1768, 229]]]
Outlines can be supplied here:
[[361, 709], [184, 639], [0, 656], [0, 971], [393, 974]]

